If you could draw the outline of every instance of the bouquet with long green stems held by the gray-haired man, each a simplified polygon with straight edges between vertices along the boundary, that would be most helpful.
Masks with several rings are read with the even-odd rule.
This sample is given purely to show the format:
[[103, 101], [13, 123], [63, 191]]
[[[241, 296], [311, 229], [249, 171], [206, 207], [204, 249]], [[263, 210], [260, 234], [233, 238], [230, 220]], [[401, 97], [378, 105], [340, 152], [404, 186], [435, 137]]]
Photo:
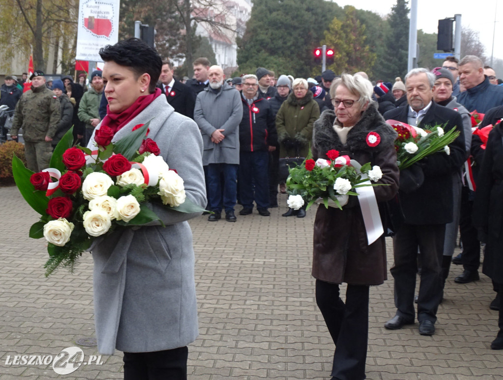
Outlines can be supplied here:
[[449, 144], [459, 136], [459, 131], [451, 129], [444, 132], [440, 125], [433, 127], [430, 131], [396, 120], [386, 120], [386, 123], [398, 133], [395, 149], [400, 170], [439, 151], [450, 154]]

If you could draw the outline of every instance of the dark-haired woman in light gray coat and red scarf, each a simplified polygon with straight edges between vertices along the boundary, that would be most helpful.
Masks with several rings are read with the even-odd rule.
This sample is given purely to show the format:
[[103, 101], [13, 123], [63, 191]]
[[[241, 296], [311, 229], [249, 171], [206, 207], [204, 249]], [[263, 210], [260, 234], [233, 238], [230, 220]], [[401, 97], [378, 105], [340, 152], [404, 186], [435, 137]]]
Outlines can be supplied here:
[[[202, 139], [196, 123], [180, 114], [155, 88], [161, 71], [157, 52], [138, 39], [100, 50], [108, 101], [102, 125], [112, 142], [150, 121], [148, 137], [184, 179], [186, 196], [206, 205]], [[126, 380], [186, 379], [187, 345], [198, 335], [194, 250], [185, 214], [152, 204], [158, 222], [116, 231], [92, 247], [98, 350], [124, 351]], [[156, 225], [155, 225], [156, 224]]]

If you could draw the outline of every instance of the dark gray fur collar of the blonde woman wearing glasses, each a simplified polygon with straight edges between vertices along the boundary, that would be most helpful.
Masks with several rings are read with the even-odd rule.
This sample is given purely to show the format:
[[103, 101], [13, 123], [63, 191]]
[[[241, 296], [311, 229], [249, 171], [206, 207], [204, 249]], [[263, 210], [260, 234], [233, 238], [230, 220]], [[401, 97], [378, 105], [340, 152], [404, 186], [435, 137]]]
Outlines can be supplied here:
[[[335, 119], [336, 114], [332, 110], [326, 110], [314, 122], [313, 145], [318, 152], [327, 152], [330, 149], [336, 149], [341, 152], [349, 152], [350, 154], [358, 150], [376, 153], [393, 145], [397, 137], [395, 130], [384, 122], [383, 117], [377, 111], [375, 103], [369, 105], [367, 110], [362, 114], [361, 119], [349, 131], [346, 144], [341, 142], [339, 135], [333, 130], [332, 126]], [[367, 135], [369, 132], [376, 132], [381, 137], [381, 142], [375, 147], [367, 144]]]

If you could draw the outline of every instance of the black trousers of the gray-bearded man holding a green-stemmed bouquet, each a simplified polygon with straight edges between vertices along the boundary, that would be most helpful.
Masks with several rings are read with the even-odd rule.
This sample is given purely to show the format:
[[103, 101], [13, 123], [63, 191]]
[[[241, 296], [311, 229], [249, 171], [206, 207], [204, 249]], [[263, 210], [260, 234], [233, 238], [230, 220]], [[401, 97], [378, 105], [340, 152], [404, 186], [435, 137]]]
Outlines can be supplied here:
[[414, 321], [414, 291], [417, 272], [417, 247], [421, 252], [421, 283], [417, 299], [417, 320], [437, 321], [442, 299], [442, 257], [445, 224], [402, 224], [393, 237], [395, 263], [390, 269], [395, 280], [396, 315]]

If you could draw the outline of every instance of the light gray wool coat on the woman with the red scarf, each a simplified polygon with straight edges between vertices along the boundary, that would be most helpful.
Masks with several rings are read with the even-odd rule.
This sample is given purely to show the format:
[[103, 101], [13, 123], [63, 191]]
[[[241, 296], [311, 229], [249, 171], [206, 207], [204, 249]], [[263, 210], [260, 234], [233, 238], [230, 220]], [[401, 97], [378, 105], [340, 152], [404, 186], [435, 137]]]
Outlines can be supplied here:
[[[176, 113], [166, 97], [154, 99], [112, 142], [150, 119], [148, 137], [183, 178], [187, 198], [205, 207], [201, 134], [196, 123]], [[88, 147], [94, 147], [94, 133]], [[101, 354], [111, 355], [115, 348], [126, 352], [168, 350], [186, 346], [198, 335], [194, 249], [187, 220], [200, 213], [180, 213], [161, 205], [153, 205], [153, 210], [166, 227], [156, 222], [116, 231], [92, 247]]]

